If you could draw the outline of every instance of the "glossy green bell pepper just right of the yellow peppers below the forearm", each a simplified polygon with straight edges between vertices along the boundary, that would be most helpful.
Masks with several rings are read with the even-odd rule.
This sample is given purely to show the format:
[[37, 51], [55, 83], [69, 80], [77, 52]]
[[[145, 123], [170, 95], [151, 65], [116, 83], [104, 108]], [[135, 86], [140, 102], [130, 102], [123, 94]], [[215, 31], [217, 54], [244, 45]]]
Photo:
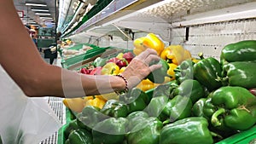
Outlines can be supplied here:
[[128, 107], [123, 101], [108, 100], [102, 107], [101, 112], [110, 117], [123, 117], [128, 115]]

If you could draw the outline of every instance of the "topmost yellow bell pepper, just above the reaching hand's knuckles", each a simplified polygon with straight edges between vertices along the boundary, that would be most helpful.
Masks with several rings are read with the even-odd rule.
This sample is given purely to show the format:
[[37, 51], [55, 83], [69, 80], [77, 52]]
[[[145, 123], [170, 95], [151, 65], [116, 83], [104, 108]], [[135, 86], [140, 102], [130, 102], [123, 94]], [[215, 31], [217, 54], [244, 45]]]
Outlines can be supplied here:
[[145, 49], [154, 49], [158, 55], [165, 49], [165, 44], [160, 40], [159, 37], [155, 36], [154, 33], [148, 33], [146, 37], [140, 37], [135, 39], [133, 42], [135, 49], [133, 53], [139, 55]]

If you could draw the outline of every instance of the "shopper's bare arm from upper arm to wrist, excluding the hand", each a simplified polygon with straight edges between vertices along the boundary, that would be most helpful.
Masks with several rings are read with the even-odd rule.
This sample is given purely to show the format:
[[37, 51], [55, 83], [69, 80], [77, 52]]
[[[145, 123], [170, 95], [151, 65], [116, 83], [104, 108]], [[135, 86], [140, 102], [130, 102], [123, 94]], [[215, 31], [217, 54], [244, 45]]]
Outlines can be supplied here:
[[[0, 64], [28, 96], [84, 96], [125, 89], [122, 78], [85, 76], [50, 66], [23, 26], [12, 1], [0, 2]], [[10, 31], [10, 29], [12, 31]]]

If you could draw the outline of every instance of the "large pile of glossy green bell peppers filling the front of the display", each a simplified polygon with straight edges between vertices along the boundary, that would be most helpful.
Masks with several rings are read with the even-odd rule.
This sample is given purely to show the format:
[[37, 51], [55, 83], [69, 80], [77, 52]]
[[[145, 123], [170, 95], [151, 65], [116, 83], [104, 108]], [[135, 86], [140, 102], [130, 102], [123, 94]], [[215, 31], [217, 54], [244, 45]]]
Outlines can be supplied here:
[[252, 128], [256, 41], [226, 45], [220, 61], [200, 57], [196, 63], [183, 60], [176, 79], [154, 90], [134, 88], [102, 109], [84, 107], [67, 124], [66, 144], [212, 144]]

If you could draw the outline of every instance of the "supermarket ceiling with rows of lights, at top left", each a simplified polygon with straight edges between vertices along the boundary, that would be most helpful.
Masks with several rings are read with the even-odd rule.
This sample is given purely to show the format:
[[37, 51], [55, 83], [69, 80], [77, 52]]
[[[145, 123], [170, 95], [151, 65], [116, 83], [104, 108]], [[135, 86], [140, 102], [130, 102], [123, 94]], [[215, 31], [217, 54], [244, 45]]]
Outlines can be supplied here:
[[24, 25], [55, 26], [55, 0], [14, 0], [14, 3], [19, 14], [24, 15], [21, 18]]

